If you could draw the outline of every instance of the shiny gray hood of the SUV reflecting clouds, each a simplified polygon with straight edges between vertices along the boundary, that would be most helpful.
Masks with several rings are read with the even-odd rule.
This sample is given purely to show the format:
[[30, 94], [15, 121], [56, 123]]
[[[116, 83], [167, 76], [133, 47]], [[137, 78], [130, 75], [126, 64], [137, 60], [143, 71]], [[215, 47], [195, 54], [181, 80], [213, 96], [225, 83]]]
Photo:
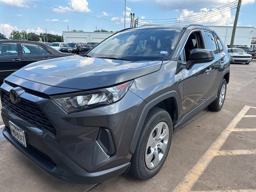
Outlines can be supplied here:
[[46, 85], [87, 90], [147, 75], [159, 70], [161, 65], [162, 61], [124, 61], [74, 55], [31, 63], [12, 75]]

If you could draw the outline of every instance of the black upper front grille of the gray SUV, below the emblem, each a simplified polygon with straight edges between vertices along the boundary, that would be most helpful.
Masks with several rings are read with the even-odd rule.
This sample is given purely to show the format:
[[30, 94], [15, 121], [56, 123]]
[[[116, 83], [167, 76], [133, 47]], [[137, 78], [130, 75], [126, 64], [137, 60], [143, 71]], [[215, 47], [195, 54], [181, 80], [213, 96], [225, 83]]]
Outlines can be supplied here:
[[56, 135], [56, 130], [43, 111], [34, 103], [20, 99], [17, 104], [12, 103], [8, 92], [2, 90], [3, 107], [11, 111], [14, 115], [42, 129], [52, 135]]

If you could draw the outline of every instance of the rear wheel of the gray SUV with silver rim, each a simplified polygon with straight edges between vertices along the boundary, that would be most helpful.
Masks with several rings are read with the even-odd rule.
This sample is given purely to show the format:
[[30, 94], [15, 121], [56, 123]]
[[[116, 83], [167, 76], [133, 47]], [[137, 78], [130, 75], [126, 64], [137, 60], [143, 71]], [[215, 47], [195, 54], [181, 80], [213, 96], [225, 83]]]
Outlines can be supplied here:
[[227, 91], [227, 81], [226, 79], [222, 80], [222, 84], [218, 91], [218, 97], [215, 101], [213, 101], [210, 105], [208, 105], [208, 109], [211, 111], [219, 111], [223, 104], [226, 97], [226, 91]]

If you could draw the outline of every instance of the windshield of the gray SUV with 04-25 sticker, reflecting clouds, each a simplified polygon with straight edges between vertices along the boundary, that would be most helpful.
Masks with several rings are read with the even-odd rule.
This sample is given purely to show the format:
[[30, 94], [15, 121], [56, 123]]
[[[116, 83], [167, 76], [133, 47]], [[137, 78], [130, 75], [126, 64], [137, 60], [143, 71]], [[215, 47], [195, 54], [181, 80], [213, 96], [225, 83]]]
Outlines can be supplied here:
[[126, 60], [169, 60], [181, 29], [136, 29], [117, 33], [89, 53], [90, 57], [111, 57]]

